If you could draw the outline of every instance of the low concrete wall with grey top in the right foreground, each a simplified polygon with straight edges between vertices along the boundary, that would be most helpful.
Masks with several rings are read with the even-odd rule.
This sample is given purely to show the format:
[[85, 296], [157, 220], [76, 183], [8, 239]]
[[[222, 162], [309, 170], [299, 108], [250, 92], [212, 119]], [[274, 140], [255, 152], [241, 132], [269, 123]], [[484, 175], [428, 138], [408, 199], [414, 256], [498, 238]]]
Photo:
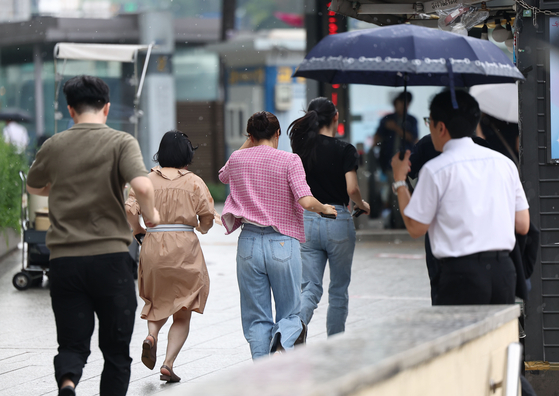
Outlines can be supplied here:
[[[261, 358], [165, 395], [500, 396], [519, 307], [430, 307]], [[516, 362], [520, 371], [520, 358]]]

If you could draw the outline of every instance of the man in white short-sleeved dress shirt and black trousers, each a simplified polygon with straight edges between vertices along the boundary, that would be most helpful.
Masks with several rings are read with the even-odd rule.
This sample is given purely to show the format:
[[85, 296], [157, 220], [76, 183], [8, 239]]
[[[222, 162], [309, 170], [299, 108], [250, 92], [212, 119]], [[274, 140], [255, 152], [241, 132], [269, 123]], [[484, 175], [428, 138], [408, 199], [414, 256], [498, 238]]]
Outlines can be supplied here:
[[514, 163], [470, 138], [480, 119], [476, 100], [449, 91], [435, 96], [429, 129], [442, 154], [419, 173], [413, 196], [405, 179], [410, 152], [392, 159], [393, 189], [412, 237], [429, 231], [431, 249], [441, 260], [434, 305], [512, 304], [516, 286], [515, 231], [528, 232], [528, 202]]

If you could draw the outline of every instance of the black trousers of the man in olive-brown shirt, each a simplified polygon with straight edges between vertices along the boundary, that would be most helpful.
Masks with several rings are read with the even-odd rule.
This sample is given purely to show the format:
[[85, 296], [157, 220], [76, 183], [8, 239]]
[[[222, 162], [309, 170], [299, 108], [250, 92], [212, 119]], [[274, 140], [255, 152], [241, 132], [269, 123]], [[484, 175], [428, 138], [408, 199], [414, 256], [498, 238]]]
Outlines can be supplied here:
[[58, 336], [54, 358], [58, 385], [65, 378], [78, 384], [91, 353], [97, 314], [99, 348], [105, 359], [100, 395], [126, 395], [137, 306], [130, 254], [56, 258], [50, 261], [49, 279]]

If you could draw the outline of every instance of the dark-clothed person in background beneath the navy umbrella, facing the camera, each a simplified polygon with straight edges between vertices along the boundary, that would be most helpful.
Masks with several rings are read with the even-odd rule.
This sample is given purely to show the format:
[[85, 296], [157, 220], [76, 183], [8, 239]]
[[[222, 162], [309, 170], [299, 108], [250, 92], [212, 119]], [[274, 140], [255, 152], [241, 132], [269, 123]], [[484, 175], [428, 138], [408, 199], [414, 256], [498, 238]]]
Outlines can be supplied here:
[[[388, 114], [380, 120], [379, 127], [373, 137], [373, 149], [377, 145], [380, 148], [379, 166], [390, 184], [394, 182], [390, 161], [392, 156], [400, 151], [402, 140], [405, 140], [404, 150], [411, 150], [417, 142], [417, 120], [407, 112], [412, 98], [410, 92], [401, 92], [394, 99], [394, 113]], [[405, 120], [404, 113], [406, 113]], [[392, 191], [389, 192], [387, 204], [390, 209], [389, 228], [405, 228], [398, 208], [398, 199]]]

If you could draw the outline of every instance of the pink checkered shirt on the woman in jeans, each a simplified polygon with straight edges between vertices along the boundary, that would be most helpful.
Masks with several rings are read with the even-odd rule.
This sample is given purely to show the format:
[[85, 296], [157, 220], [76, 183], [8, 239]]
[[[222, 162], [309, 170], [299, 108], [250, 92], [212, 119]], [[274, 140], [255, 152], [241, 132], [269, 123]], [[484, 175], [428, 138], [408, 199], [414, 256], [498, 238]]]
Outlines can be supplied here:
[[244, 219], [305, 242], [298, 201], [312, 193], [297, 154], [264, 145], [237, 150], [219, 171], [219, 180], [231, 188], [221, 216], [227, 234]]

